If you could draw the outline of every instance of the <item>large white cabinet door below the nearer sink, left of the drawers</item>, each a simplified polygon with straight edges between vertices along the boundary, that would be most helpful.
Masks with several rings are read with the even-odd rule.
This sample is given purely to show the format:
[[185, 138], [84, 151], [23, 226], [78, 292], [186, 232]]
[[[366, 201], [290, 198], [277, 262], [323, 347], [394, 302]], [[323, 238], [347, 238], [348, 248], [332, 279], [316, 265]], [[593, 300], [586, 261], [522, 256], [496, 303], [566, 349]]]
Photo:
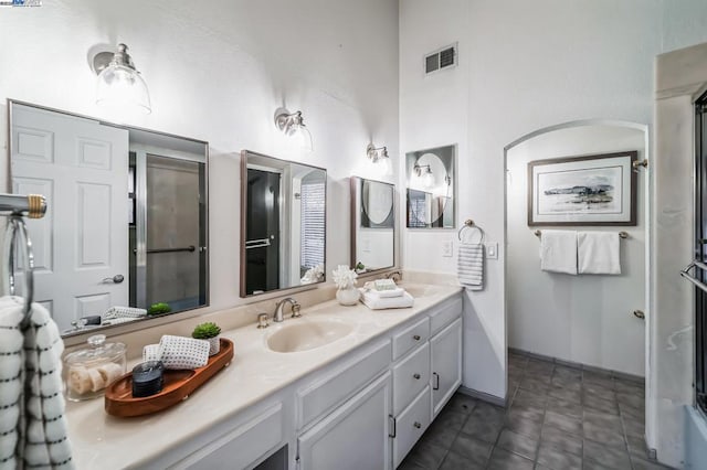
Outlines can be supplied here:
[[302, 470], [390, 469], [390, 372], [297, 439]]

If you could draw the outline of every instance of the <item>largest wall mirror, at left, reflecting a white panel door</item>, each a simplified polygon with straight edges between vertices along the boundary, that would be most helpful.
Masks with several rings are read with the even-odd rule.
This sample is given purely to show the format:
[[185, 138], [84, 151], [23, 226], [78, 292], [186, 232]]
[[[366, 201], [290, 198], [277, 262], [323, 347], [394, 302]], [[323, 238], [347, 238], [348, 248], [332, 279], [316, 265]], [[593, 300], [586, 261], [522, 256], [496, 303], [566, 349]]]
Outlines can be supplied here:
[[35, 300], [60, 329], [208, 306], [208, 143], [9, 107], [12, 192], [49, 206], [28, 221]]

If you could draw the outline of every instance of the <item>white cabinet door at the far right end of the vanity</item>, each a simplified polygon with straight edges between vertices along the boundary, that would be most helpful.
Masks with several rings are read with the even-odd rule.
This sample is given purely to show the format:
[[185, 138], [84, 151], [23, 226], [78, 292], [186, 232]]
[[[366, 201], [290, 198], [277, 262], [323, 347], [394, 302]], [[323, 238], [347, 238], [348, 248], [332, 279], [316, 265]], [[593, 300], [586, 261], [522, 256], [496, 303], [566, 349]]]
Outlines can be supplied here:
[[456, 319], [430, 340], [432, 346], [432, 415], [462, 384], [462, 319]]

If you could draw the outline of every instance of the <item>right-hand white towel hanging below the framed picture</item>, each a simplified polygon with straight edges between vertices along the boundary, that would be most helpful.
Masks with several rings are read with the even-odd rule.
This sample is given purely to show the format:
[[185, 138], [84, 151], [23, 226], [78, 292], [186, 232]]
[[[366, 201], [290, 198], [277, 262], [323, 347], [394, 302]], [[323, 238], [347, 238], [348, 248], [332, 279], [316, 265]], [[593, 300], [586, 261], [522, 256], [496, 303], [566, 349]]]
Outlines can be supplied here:
[[580, 274], [621, 274], [618, 232], [580, 232], [577, 243]]

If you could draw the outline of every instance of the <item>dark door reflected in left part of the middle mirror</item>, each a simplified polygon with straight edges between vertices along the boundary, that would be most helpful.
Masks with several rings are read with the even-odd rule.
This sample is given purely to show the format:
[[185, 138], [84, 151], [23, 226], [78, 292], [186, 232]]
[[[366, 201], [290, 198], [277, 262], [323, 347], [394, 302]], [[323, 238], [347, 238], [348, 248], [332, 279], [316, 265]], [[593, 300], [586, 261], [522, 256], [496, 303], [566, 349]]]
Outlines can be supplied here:
[[245, 233], [246, 292], [279, 288], [281, 174], [247, 169]]

